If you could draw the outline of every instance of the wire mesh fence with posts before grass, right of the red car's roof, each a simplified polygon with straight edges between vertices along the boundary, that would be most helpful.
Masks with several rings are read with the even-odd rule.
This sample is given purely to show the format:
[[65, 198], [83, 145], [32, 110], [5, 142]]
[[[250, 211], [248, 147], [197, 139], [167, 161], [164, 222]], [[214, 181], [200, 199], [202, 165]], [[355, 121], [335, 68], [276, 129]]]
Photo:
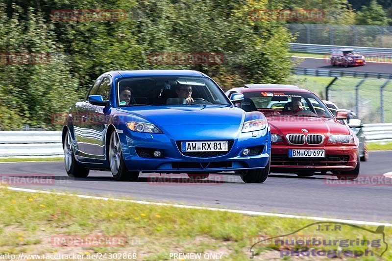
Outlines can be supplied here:
[[364, 123], [392, 122], [392, 80], [339, 78], [326, 96], [340, 109], [355, 112]]

